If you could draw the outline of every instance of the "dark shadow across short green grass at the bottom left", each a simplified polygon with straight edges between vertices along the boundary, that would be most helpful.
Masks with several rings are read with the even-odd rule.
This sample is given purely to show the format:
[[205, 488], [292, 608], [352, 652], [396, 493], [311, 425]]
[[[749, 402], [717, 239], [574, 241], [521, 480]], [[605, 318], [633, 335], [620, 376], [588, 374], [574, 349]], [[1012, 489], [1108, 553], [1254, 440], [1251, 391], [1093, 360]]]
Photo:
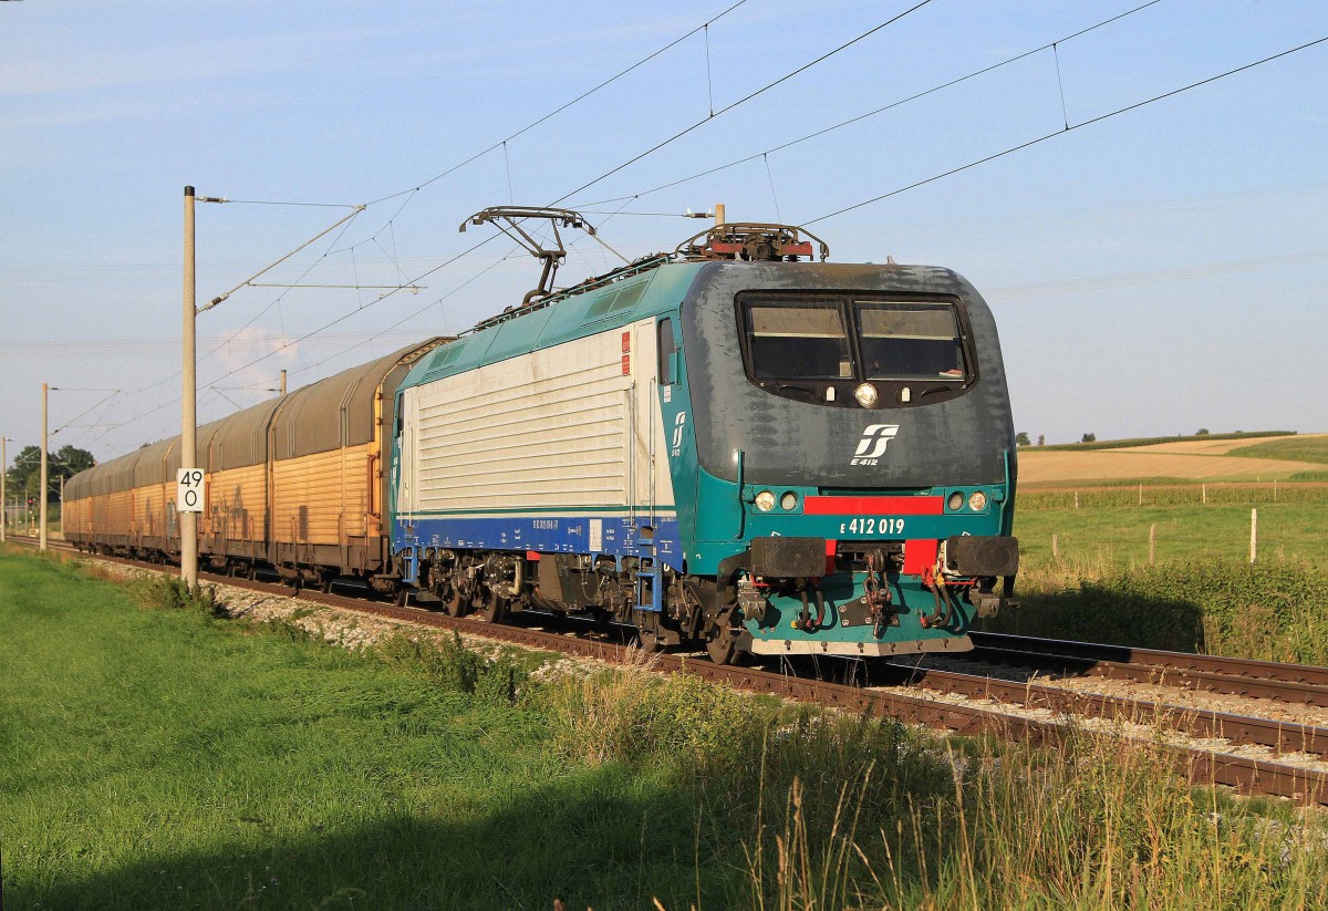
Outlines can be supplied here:
[[[733, 867], [692, 851], [691, 794], [649, 789], [615, 766], [537, 791], [515, 787], [505, 806], [432, 811], [288, 837], [246, 819], [206, 854], [143, 858], [78, 879], [17, 890], [11, 908], [668, 908], [729, 907]], [[491, 805], [491, 801], [490, 801]], [[373, 807], [367, 807], [367, 815]], [[485, 814], [483, 818], [475, 818]], [[252, 830], [243, 834], [240, 826]], [[266, 829], [276, 831], [264, 831]], [[713, 843], [704, 831], [700, 843]], [[703, 849], [704, 850], [704, 849]]]

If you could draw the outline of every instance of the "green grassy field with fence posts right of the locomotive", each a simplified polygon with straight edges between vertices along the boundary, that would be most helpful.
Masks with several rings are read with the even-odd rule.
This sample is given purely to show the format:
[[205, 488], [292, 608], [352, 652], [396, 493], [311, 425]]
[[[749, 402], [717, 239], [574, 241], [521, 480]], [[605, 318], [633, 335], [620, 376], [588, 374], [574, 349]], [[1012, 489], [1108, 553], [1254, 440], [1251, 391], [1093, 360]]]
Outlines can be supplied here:
[[[1328, 438], [1286, 437], [1228, 454], [1328, 463]], [[1328, 664], [1328, 487], [1208, 485], [1204, 506], [1198, 483], [1155, 485], [1145, 483], [1143, 506], [1137, 489], [1118, 485], [1085, 485], [1078, 509], [1073, 489], [1021, 491], [1024, 606], [988, 628]]]

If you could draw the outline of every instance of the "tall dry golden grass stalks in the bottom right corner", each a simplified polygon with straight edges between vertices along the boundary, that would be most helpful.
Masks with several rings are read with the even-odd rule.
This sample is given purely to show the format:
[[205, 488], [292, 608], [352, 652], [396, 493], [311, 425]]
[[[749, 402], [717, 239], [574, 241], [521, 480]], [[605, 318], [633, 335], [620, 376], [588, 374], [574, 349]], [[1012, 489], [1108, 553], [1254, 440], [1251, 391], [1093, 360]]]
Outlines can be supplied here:
[[846, 782], [831, 829], [794, 787], [746, 842], [750, 907], [1328, 907], [1320, 818], [1268, 819], [1159, 774], [1158, 748], [1078, 733], [1056, 761], [1027, 750], [956, 764], [950, 794], [869, 818]]

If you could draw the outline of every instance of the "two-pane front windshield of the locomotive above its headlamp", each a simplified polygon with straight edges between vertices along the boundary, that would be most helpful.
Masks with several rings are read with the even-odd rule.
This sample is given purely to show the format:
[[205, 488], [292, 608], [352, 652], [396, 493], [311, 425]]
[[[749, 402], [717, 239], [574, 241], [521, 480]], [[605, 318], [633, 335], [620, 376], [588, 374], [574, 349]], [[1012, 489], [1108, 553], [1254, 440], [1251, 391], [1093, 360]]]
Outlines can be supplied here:
[[952, 301], [742, 295], [738, 309], [756, 381], [972, 378]]

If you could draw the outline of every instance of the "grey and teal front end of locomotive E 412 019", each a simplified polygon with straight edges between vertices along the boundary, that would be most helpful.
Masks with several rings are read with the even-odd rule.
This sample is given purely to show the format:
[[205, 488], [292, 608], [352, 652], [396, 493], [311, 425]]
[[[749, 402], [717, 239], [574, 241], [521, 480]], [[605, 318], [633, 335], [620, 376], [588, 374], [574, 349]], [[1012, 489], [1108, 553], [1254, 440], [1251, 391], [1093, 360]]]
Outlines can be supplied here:
[[728, 594], [737, 647], [971, 648], [1019, 568], [1009, 394], [973, 287], [935, 267], [714, 262], [680, 323], [688, 571]]

